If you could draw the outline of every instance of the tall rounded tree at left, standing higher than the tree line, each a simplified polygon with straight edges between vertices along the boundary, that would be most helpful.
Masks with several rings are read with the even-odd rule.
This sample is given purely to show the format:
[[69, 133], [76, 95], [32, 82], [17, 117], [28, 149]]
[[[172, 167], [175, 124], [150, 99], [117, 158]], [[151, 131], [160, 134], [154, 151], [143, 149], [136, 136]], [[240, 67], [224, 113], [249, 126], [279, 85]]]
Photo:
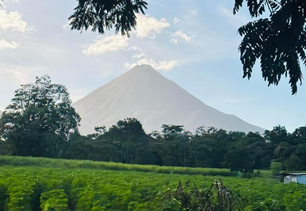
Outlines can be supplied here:
[[45, 75], [21, 85], [1, 118], [0, 134], [13, 143], [16, 155], [46, 156], [63, 150], [78, 133], [80, 116], [71, 106], [65, 86]]

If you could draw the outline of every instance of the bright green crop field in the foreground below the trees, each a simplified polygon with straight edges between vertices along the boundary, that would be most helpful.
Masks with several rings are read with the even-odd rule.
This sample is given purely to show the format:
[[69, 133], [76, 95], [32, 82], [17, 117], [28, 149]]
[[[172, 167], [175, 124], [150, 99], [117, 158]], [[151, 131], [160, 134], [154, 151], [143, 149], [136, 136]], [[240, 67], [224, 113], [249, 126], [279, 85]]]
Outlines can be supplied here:
[[305, 210], [305, 185], [239, 178], [226, 169], [7, 156], [0, 165], [0, 210], [159, 210], [158, 193], [176, 188], [179, 180], [207, 188], [218, 178], [248, 199], [249, 208], [242, 210]]

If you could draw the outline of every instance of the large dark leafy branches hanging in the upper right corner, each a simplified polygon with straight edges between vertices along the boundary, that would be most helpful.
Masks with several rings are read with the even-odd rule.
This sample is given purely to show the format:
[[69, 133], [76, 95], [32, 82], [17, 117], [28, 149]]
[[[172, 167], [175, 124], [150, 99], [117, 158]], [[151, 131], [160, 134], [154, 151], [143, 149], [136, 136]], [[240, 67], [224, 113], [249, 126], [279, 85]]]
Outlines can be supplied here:
[[252, 17], [269, 10], [269, 18], [260, 18], [238, 29], [243, 37], [239, 46], [243, 77], [250, 79], [256, 59], [260, 59], [262, 76], [278, 85], [281, 76], [289, 74], [292, 94], [297, 93], [297, 82], [302, 83], [300, 60], [306, 65], [306, 3], [304, 0], [235, 0], [236, 14], [247, 2]]

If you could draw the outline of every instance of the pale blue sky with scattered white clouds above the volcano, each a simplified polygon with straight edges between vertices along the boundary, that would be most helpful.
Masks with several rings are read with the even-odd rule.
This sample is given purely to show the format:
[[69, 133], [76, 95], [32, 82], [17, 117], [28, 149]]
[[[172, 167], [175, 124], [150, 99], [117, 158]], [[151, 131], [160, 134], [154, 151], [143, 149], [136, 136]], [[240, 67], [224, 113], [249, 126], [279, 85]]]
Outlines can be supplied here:
[[[0, 110], [20, 84], [48, 74], [64, 84], [73, 102], [136, 64], [163, 76], [224, 113], [265, 129], [288, 131], [306, 124], [306, 84], [291, 95], [289, 78], [267, 87], [259, 61], [243, 79], [237, 29], [251, 21], [231, 0], [147, 0], [131, 38], [114, 30], [99, 35], [71, 31], [76, 0], [5, 0], [0, 9]], [[304, 67], [303, 72], [304, 71]], [[305, 81], [303, 80], [303, 83]]]

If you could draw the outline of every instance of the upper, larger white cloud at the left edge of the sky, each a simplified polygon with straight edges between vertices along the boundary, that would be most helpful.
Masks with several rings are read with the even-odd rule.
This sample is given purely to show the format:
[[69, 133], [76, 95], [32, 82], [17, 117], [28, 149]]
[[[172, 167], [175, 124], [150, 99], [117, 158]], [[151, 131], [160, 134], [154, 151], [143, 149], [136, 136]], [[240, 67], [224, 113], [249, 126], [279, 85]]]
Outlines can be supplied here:
[[6, 10], [0, 10], [0, 28], [4, 31], [35, 32], [35, 26], [29, 26], [21, 17], [17, 11], [7, 13]]

